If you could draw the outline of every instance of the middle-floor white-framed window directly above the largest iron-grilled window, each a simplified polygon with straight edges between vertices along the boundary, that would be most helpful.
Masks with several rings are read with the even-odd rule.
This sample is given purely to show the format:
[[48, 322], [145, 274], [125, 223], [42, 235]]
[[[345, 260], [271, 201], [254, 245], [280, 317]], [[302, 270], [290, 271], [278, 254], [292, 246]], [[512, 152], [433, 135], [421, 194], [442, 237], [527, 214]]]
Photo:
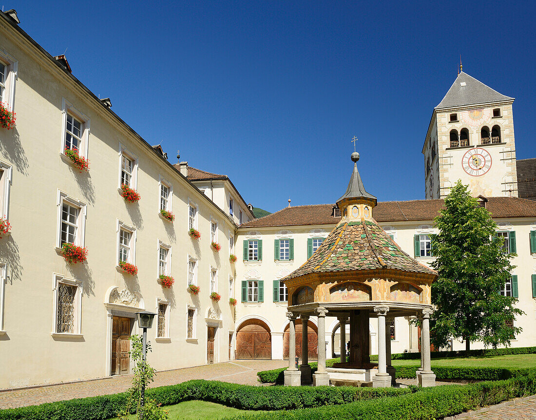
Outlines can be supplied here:
[[86, 205], [58, 191], [57, 247], [64, 243], [84, 246]]

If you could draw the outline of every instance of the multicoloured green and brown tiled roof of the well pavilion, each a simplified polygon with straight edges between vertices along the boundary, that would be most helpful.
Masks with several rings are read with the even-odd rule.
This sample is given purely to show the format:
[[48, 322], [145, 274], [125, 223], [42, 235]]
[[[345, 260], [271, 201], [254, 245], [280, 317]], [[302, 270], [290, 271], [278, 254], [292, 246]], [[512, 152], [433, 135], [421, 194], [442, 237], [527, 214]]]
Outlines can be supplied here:
[[312, 273], [377, 269], [436, 274], [402, 251], [376, 223], [356, 221], [340, 222], [312, 257], [285, 279]]

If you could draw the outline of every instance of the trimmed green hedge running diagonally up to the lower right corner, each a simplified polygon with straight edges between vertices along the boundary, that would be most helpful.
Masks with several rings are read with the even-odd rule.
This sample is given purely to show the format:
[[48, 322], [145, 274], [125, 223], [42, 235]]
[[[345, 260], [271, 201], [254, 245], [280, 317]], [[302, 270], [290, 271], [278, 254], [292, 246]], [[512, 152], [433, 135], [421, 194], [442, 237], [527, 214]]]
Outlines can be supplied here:
[[421, 391], [332, 407], [245, 414], [228, 420], [435, 420], [536, 393], [535, 371], [526, 376], [471, 385], [443, 385]]

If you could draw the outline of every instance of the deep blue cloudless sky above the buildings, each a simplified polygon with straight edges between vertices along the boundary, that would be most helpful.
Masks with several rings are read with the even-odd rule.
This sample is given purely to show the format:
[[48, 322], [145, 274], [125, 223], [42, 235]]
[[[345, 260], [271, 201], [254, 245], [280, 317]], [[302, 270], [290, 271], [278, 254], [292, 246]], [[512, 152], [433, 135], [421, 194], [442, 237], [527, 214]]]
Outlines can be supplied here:
[[271, 212], [334, 202], [359, 170], [378, 200], [425, 198], [433, 108], [464, 71], [513, 104], [536, 157], [536, 6], [526, 2], [13, 1], [20, 26], [176, 163], [227, 174]]

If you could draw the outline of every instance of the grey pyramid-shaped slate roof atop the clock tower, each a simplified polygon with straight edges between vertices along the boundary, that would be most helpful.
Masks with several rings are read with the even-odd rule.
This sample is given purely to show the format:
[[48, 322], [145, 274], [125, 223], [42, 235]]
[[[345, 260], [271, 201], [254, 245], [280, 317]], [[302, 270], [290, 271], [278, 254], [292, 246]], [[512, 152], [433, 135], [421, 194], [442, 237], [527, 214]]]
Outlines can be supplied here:
[[467, 73], [461, 72], [435, 109], [508, 100], [513, 100], [513, 97], [498, 93]]

